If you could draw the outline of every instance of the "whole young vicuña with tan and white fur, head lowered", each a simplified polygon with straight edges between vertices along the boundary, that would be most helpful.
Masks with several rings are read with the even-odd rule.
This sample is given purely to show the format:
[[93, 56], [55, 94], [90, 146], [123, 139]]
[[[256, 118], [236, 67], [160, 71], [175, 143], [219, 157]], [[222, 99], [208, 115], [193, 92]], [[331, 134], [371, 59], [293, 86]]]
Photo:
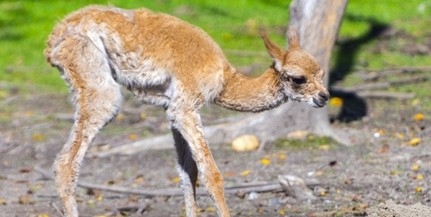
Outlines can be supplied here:
[[229, 216], [223, 177], [204, 137], [199, 109], [213, 102], [239, 111], [260, 112], [288, 99], [322, 107], [328, 93], [323, 71], [290, 30], [284, 51], [262, 34], [273, 65], [257, 78], [229, 64], [201, 29], [146, 9], [91, 6], [60, 22], [45, 56], [68, 82], [76, 105], [70, 138], [55, 163], [65, 216], [78, 216], [75, 188], [79, 167], [97, 132], [118, 112], [127, 87], [144, 103], [166, 109], [178, 155], [187, 216], [197, 215], [198, 172], [219, 216]]

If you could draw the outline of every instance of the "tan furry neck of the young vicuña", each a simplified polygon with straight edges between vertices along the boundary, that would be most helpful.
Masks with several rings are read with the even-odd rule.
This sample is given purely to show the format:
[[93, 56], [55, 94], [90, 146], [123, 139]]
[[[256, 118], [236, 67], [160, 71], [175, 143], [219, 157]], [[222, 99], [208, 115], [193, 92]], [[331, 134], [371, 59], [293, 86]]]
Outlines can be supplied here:
[[270, 68], [259, 77], [248, 77], [229, 68], [224, 72], [223, 91], [215, 99], [218, 105], [237, 111], [260, 112], [287, 100], [281, 82]]

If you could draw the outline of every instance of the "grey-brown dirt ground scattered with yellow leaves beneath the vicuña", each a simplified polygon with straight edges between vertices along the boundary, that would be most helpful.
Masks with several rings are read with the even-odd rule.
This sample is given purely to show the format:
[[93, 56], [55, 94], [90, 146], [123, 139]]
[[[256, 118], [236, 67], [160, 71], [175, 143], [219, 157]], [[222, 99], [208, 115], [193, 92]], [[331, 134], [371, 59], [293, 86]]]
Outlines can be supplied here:
[[[59, 216], [54, 182], [35, 168], [51, 171], [67, 139], [73, 113], [68, 97], [11, 91], [0, 103], [0, 216]], [[341, 133], [354, 129], [365, 138], [351, 147], [322, 140], [237, 153], [229, 144], [212, 144], [226, 186], [276, 183], [278, 175], [294, 175], [313, 183], [308, 186], [317, 198], [301, 201], [281, 189], [237, 192], [227, 195], [232, 215], [431, 216], [431, 120], [413, 118], [430, 112], [414, 99], [367, 100], [367, 106], [361, 120], [333, 124]], [[215, 107], [205, 111], [208, 124], [225, 112]], [[80, 181], [141, 190], [178, 188], [173, 149], [91, 156], [166, 130], [163, 111], [126, 99], [118, 118], [93, 142]], [[81, 216], [184, 216], [181, 196], [79, 188], [77, 197]], [[199, 196], [198, 204], [200, 216], [216, 216], [207, 196]]]

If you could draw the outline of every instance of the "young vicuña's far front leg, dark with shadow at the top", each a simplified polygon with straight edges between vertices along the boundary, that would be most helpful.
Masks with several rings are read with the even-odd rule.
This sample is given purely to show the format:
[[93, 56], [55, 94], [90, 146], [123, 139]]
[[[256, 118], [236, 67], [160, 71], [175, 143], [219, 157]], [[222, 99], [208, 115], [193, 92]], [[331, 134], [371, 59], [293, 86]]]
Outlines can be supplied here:
[[186, 215], [188, 217], [194, 217], [197, 214], [196, 182], [198, 178], [198, 168], [187, 141], [177, 129], [172, 128], [171, 130], [178, 155], [177, 170], [181, 180], [181, 188], [184, 192]]

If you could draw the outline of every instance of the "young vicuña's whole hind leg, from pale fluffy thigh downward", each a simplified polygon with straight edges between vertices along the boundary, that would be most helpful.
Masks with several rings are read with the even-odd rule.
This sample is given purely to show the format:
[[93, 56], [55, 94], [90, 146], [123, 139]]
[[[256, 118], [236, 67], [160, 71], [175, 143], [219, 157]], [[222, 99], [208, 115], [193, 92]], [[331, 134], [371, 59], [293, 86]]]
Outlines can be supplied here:
[[97, 132], [118, 112], [122, 95], [100, 50], [82, 38], [67, 38], [59, 46], [53, 59], [64, 63], [58, 68], [71, 85], [76, 113], [69, 139], [54, 162], [54, 172], [65, 216], [77, 217], [79, 167]]

